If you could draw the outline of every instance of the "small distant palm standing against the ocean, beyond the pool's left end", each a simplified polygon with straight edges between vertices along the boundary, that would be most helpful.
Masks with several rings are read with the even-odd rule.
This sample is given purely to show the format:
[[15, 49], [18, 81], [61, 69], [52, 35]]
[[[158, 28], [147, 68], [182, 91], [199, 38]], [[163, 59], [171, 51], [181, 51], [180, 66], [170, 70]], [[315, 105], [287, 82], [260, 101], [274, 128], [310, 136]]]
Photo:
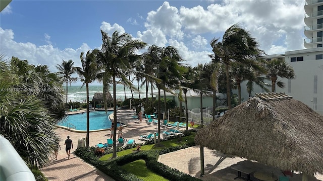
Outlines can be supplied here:
[[68, 93], [68, 83], [75, 82], [77, 80], [76, 77], [71, 77], [73, 73], [76, 73], [76, 68], [74, 67], [73, 60], [64, 61], [63, 63], [57, 64], [56, 68], [59, 70], [58, 73], [63, 75], [63, 80], [66, 82], [66, 106], [67, 106], [67, 93]]

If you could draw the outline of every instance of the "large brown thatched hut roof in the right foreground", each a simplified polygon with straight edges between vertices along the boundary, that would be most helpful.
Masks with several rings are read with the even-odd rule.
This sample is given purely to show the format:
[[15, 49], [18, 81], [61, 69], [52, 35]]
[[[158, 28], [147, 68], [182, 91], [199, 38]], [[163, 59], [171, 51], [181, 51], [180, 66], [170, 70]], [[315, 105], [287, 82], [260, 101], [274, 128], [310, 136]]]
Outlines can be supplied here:
[[282, 170], [323, 173], [323, 116], [284, 95], [249, 99], [199, 130], [195, 142]]

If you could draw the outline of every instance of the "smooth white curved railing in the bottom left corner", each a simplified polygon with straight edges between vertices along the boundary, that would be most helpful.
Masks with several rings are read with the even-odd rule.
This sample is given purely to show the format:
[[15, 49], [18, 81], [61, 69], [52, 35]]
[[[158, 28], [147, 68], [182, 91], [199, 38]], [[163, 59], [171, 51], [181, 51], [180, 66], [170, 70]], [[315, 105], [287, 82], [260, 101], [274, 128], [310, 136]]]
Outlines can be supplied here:
[[2, 179], [7, 181], [36, 180], [34, 174], [17, 153], [16, 149], [1, 135], [0, 145], [0, 169]]

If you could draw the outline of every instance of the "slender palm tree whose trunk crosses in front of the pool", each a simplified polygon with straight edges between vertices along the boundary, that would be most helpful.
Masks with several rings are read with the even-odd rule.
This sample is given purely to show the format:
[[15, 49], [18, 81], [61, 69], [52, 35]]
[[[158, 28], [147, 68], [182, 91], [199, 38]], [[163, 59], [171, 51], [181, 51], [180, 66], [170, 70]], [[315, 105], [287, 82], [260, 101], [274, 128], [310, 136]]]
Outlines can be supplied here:
[[[99, 50], [87, 51], [84, 56], [84, 52], [81, 53], [80, 59], [82, 67], [77, 67], [77, 73], [81, 77], [83, 82], [82, 86], [86, 86], [86, 141], [85, 147], [89, 148], [89, 127], [90, 127], [90, 114], [89, 114], [89, 83], [97, 79], [99, 68], [96, 63], [96, 56]], [[105, 95], [105, 94], [103, 94]]]

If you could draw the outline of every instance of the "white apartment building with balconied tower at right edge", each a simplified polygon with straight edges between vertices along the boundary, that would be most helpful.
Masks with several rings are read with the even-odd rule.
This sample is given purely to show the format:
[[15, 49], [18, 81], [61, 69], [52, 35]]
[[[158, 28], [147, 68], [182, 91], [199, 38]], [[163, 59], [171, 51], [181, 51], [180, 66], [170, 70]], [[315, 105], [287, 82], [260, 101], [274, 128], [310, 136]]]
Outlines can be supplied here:
[[[323, 0], [305, 1], [304, 47], [306, 49], [287, 51], [282, 55], [268, 55], [265, 58], [284, 58], [295, 71], [295, 79], [278, 78], [285, 83], [284, 88], [276, 85], [276, 92], [286, 93], [323, 115]], [[268, 84], [271, 81], [266, 81]], [[271, 90], [269, 86], [268, 89]], [[254, 93], [264, 92], [254, 85]], [[236, 93], [236, 90], [234, 90]], [[248, 100], [246, 82], [241, 83], [243, 101]]]

